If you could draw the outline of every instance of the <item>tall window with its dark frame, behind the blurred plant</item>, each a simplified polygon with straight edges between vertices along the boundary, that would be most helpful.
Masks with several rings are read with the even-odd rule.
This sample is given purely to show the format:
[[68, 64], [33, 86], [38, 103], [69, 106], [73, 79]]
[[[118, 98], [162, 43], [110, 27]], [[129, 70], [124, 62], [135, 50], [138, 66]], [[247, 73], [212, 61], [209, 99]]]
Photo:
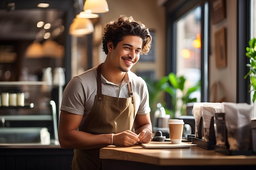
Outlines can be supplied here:
[[[192, 93], [190, 97], [196, 97], [197, 102], [207, 102], [208, 1], [178, 0], [175, 4], [167, 3], [166, 7], [166, 74], [173, 72], [177, 76], [183, 75], [186, 78], [185, 88], [192, 87], [200, 81], [201, 89]], [[171, 97], [166, 96], [166, 102], [171, 103]]]

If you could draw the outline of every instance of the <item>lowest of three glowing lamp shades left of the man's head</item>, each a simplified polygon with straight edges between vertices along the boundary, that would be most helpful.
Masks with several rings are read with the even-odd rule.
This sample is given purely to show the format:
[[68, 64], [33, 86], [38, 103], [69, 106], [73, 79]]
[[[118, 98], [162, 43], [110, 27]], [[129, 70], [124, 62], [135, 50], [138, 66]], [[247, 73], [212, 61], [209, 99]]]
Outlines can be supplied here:
[[83, 36], [94, 31], [94, 27], [88, 18], [74, 18], [70, 25], [69, 33], [74, 36]]

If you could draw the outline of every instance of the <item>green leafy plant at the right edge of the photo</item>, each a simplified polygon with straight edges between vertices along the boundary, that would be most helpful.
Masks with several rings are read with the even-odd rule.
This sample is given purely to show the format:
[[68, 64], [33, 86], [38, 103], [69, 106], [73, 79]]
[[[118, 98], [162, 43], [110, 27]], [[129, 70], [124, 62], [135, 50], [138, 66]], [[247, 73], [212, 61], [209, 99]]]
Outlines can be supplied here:
[[[250, 84], [249, 87], [251, 90], [249, 92], [256, 91], [256, 39], [252, 38], [249, 40], [249, 47], [246, 47], [245, 55], [249, 57], [250, 63], [246, 64], [249, 68], [249, 72], [245, 75], [245, 79], [249, 76], [250, 77]], [[256, 93], [253, 94], [252, 102], [254, 103], [256, 99]]]

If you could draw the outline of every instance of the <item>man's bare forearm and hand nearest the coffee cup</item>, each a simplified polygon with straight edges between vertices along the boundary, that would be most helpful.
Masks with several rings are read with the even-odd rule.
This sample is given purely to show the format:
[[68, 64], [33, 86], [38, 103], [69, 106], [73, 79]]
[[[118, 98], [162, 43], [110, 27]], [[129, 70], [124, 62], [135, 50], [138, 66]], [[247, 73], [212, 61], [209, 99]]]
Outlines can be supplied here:
[[152, 139], [152, 124], [150, 113], [146, 115], [136, 115], [134, 122], [135, 133], [139, 134], [139, 143], [148, 143]]

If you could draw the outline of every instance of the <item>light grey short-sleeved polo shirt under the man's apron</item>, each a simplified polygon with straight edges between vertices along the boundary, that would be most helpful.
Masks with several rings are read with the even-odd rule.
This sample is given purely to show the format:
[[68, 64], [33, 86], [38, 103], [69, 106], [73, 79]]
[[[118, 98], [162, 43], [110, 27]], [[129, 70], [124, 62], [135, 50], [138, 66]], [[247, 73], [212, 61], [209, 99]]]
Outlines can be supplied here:
[[[91, 68], [82, 74], [73, 77], [63, 92], [61, 110], [83, 115], [83, 120], [90, 113], [95, 95], [97, 95], [97, 67]], [[135, 97], [135, 113], [144, 115], [150, 112], [148, 88], [146, 82], [131, 71], [128, 79], [124, 79], [119, 87], [109, 82], [101, 75], [101, 93], [112, 97], [128, 98], [128, 83], [131, 81], [132, 92]]]

